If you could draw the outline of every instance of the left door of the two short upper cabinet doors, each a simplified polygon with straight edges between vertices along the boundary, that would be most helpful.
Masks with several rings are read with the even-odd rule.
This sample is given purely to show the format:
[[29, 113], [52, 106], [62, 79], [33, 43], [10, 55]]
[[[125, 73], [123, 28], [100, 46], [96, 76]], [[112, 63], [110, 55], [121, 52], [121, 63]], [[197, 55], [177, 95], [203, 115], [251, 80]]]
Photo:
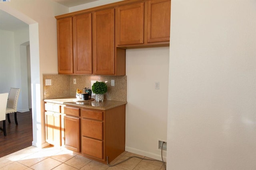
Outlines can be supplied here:
[[142, 44], [144, 2], [116, 8], [117, 45]]

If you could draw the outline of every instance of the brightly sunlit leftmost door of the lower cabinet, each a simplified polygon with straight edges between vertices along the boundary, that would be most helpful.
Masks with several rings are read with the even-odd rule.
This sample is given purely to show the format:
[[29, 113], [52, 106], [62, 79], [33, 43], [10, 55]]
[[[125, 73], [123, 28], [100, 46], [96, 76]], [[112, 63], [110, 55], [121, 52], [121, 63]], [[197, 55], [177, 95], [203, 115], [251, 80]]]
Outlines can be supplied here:
[[61, 146], [61, 128], [60, 127], [61, 127], [60, 113], [46, 111], [45, 112], [46, 142], [54, 146]]

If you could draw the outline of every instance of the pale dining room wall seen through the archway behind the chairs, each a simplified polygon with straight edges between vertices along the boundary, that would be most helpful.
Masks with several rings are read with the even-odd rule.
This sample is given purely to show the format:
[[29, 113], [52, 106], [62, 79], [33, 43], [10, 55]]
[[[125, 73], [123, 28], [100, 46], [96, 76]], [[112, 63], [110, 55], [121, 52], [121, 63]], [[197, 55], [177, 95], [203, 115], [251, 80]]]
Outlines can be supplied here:
[[17, 110], [28, 111], [26, 47], [23, 48], [22, 43], [29, 41], [29, 30], [28, 28], [14, 32], [0, 30], [0, 41], [2, 61], [0, 90], [9, 93], [10, 87], [21, 88]]

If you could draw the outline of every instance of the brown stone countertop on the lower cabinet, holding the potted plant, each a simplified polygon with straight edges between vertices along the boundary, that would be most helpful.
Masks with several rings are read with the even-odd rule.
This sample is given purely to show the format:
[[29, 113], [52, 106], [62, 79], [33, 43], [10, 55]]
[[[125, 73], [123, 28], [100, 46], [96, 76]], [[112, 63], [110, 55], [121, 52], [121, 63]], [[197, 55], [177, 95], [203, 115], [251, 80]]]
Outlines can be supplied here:
[[104, 99], [104, 102], [101, 102], [101, 101], [96, 102], [95, 100], [89, 101], [89, 102], [76, 102], [75, 96], [66, 96], [66, 97], [61, 97], [61, 98], [45, 99], [44, 102], [85, 107], [85, 108], [98, 109], [98, 110], [108, 110], [113, 107], [127, 104], [127, 102], [124, 102], [124, 101], [106, 100], [106, 99]]

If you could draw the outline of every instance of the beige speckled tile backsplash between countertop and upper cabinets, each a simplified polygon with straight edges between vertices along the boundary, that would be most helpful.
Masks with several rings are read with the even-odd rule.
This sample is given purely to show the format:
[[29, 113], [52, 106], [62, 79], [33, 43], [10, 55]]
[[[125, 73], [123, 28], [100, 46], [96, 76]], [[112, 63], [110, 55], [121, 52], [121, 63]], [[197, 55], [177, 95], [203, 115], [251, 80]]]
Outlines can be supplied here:
[[[50, 86], [46, 86], [46, 79], [51, 80]], [[126, 76], [44, 74], [43, 80], [44, 99], [76, 96], [76, 89], [91, 89], [95, 81], [103, 81], [108, 86], [108, 92], [104, 95], [106, 99], [126, 101]], [[111, 80], [114, 80], [114, 86], [111, 86]]]

